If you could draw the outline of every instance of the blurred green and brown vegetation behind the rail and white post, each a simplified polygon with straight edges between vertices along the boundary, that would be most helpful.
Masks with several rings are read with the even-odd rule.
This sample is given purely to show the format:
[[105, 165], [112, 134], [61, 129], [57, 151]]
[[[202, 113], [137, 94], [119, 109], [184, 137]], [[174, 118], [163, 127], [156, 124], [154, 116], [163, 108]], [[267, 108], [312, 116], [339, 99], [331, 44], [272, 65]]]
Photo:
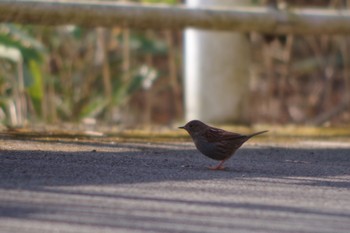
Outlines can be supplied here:
[[[341, 0], [272, 3], [349, 7]], [[246, 36], [251, 63], [245, 123], [349, 125], [349, 36]], [[183, 38], [182, 30], [2, 23], [0, 122], [7, 127], [65, 122], [133, 127], [183, 121]]]

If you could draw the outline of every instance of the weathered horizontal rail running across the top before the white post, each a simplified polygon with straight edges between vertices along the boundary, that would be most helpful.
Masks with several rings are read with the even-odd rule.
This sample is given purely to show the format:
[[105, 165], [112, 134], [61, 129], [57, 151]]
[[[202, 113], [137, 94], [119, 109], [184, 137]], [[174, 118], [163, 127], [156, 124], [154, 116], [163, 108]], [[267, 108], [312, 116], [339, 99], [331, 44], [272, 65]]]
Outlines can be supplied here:
[[191, 8], [102, 1], [1, 0], [0, 22], [86, 27], [234, 30], [273, 34], [348, 34], [350, 11], [264, 7]]

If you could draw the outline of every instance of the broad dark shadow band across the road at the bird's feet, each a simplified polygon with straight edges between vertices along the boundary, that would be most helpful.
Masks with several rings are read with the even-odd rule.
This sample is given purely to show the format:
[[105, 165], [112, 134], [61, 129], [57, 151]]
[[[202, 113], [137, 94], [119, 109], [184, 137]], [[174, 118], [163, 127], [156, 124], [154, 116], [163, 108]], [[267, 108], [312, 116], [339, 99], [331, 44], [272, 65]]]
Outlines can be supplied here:
[[[235, 177], [329, 177], [350, 175], [348, 149], [241, 148], [225, 171], [210, 171], [210, 160], [194, 149], [167, 149], [140, 144], [117, 144], [116, 152], [5, 150], [0, 152], [0, 188], [55, 185], [233, 179]], [[172, 145], [172, 144], [169, 144]], [[108, 145], [111, 147], [111, 145]], [[130, 151], [118, 152], [120, 148]], [[188, 148], [188, 146], [187, 146]], [[313, 185], [350, 187], [349, 182]]]

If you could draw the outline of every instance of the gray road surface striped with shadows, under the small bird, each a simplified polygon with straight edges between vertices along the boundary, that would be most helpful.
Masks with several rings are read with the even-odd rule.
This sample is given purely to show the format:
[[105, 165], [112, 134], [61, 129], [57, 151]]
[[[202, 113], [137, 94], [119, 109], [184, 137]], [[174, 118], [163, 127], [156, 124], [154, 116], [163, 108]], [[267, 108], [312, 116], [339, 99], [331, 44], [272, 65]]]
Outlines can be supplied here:
[[0, 232], [350, 232], [350, 143], [0, 140]]

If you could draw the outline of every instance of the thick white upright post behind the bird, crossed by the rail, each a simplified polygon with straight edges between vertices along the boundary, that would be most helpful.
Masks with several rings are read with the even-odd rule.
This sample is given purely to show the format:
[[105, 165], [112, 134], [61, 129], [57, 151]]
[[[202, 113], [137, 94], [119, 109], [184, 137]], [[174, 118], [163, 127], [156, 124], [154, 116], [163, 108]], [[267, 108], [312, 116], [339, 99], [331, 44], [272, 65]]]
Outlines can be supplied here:
[[[187, 0], [190, 7], [247, 5], [250, 1]], [[188, 28], [184, 46], [185, 118], [247, 122], [248, 37], [230, 31]]]

